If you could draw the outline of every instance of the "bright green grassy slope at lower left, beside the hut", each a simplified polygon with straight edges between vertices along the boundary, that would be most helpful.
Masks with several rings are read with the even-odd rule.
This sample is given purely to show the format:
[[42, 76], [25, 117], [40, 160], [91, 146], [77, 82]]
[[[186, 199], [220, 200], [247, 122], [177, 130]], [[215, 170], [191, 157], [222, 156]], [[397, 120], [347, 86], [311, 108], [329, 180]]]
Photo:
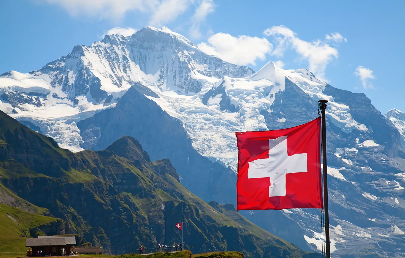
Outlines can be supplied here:
[[30, 230], [61, 221], [21, 209], [0, 204], [0, 252], [22, 252], [26, 250], [25, 239]]

